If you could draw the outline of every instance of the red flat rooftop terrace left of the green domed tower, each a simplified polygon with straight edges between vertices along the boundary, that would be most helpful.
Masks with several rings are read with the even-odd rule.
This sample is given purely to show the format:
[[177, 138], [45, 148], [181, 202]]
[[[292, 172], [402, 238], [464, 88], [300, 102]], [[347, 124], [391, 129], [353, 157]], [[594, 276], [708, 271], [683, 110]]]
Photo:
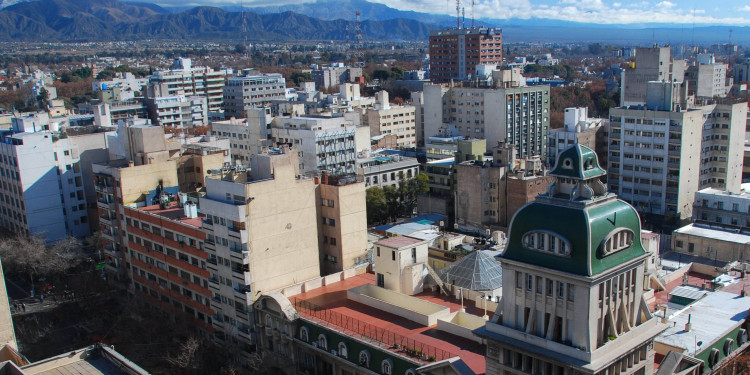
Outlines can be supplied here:
[[[307, 320], [319, 322], [327, 327], [336, 329], [349, 336], [366, 340], [378, 345], [384, 350], [408, 357], [399, 349], [395, 349], [394, 337], [408, 340], [409, 345], [424, 348], [424, 353], [437, 353], [436, 360], [440, 361], [452, 357], [460, 357], [475, 374], [486, 372], [486, 347], [476, 341], [471, 341], [453, 334], [439, 331], [437, 326], [423, 326], [401, 316], [370, 307], [347, 298], [347, 290], [365, 284], [375, 285], [375, 275], [365, 273], [345, 280], [310, 290], [291, 297], [299, 315]], [[460, 301], [452, 297], [426, 292], [414, 297], [450, 308], [451, 312], [461, 309]], [[750, 298], [749, 298], [750, 299]], [[481, 317], [483, 310], [476, 309], [473, 302], [466, 302], [466, 312]], [[471, 307], [469, 307], [471, 305]], [[305, 308], [307, 307], [307, 308]], [[312, 308], [311, 308], [312, 307]], [[321, 313], [323, 311], [324, 313]], [[492, 312], [488, 311], [492, 316]], [[342, 326], [342, 322], [356, 322], [349, 324], [349, 328]], [[366, 327], [358, 331], [359, 327]], [[375, 331], [376, 335], [373, 335]], [[372, 337], [381, 337], [373, 340]], [[391, 340], [392, 341], [392, 340]], [[417, 358], [412, 360], [424, 364]]]

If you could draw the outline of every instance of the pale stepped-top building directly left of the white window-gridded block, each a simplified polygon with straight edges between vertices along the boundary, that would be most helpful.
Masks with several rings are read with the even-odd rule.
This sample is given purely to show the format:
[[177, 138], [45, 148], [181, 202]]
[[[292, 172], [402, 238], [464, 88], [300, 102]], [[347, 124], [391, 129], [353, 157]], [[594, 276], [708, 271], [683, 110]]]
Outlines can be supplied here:
[[245, 118], [213, 121], [211, 132], [230, 140], [232, 162], [247, 164], [250, 158], [267, 146], [269, 126], [273, 117], [270, 108], [253, 108], [245, 111]]

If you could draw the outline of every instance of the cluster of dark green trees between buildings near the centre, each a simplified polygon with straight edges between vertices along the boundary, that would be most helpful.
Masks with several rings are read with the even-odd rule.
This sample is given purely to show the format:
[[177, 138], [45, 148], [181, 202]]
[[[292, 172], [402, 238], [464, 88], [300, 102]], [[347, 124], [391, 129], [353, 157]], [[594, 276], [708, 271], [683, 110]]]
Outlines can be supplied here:
[[427, 175], [405, 178], [403, 172], [399, 172], [398, 178], [396, 186], [374, 186], [367, 189], [368, 226], [411, 216], [417, 207], [417, 197], [429, 190]]

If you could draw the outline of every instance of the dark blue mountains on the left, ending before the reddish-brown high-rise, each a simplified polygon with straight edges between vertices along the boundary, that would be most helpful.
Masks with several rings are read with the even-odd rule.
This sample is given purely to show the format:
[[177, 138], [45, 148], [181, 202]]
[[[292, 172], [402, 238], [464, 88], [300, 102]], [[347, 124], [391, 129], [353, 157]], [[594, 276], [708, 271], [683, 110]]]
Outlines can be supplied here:
[[[343, 40], [346, 21], [320, 20], [293, 12], [245, 12], [248, 36], [266, 40]], [[415, 20], [365, 21], [367, 40], [426, 40], [437, 26]], [[138, 39], [239, 40], [242, 15], [214, 7], [179, 13], [117, 0], [42, 0], [0, 10], [0, 40], [100, 41]]]

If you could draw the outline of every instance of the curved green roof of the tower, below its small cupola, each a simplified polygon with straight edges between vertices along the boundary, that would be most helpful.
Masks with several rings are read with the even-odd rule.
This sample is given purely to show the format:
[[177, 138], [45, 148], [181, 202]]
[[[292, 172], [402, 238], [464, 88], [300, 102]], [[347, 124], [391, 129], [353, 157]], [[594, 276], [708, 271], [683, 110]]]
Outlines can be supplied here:
[[[641, 245], [640, 219], [635, 209], [619, 199], [591, 205], [560, 205], [537, 199], [521, 208], [510, 226], [503, 259], [534, 264], [581, 276], [594, 276], [646, 253]], [[633, 243], [606, 255], [602, 244], [616, 229], [633, 232]], [[528, 249], [526, 233], [552, 232], [570, 243], [568, 256]]]

